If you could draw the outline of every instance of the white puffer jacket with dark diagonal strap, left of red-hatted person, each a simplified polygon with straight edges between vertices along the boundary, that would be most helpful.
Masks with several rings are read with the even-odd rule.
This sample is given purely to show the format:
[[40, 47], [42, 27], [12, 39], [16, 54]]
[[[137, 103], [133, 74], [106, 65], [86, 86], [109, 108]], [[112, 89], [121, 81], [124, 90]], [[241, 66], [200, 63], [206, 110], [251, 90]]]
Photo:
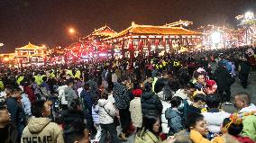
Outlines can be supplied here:
[[100, 123], [101, 124], [113, 123], [114, 116], [115, 116], [115, 108], [113, 103], [105, 99], [99, 99], [98, 105], [99, 105], [98, 115], [99, 115]]

